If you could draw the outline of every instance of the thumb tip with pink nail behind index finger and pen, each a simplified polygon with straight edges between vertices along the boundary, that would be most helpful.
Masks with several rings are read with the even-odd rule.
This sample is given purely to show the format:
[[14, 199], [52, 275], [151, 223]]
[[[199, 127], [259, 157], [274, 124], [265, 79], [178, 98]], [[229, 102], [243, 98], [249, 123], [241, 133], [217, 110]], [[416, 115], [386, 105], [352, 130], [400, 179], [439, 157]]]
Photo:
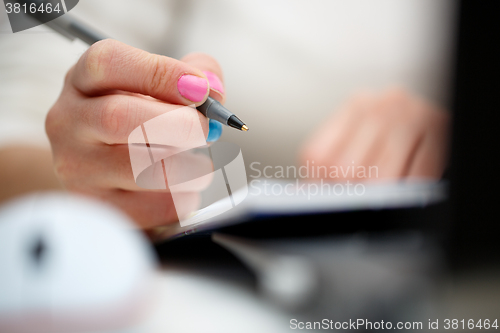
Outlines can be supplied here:
[[202, 70], [210, 85], [210, 97], [224, 104], [226, 101], [224, 77], [217, 60], [203, 53], [190, 53], [181, 61]]

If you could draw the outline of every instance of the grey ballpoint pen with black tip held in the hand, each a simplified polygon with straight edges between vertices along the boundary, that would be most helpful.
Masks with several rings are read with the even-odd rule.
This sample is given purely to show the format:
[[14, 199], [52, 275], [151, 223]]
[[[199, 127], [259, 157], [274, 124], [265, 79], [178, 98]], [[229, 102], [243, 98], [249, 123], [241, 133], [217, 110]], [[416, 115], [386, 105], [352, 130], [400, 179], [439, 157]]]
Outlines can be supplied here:
[[[37, 0], [31, 0], [31, 2], [41, 3], [41, 1]], [[27, 11], [26, 14], [42, 23], [48, 18], [48, 14], [41, 14], [38, 11], [35, 11], [35, 13]], [[100, 32], [94, 30], [92, 27], [71, 17], [69, 14], [59, 16], [49, 22], [46, 22], [45, 25], [70, 40], [78, 38], [89, 45], [107, 38]], [[239, 129], [240, 131], [248, 131], [247, 125], [245, 125], [240, 118], [210, 96], [207, 97], [205, 103], [198, 106], [196, 109], [207, 118], [214, 119], [226, 126]]]

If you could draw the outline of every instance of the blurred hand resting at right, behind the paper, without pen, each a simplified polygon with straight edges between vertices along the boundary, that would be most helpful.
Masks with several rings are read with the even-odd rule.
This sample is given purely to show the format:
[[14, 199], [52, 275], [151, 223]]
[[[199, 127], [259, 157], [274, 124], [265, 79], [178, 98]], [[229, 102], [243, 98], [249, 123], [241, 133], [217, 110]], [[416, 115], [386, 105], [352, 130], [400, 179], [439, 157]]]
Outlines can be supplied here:
[[402, 89], [358, 94], [305, 143], [301, 163], [310, 175], [315, 169], [314, 178], [437, 179], [448, 123], [447, 112]]

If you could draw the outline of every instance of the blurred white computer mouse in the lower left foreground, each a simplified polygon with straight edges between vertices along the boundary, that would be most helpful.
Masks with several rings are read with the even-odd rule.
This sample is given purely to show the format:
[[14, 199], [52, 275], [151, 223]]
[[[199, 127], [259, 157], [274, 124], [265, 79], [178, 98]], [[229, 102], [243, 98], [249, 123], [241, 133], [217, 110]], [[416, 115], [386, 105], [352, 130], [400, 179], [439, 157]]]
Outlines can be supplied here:
[[151, 303], [156, 259], [129, 218], [88, 198], [0, 208], [0, 332], [116, 331]]

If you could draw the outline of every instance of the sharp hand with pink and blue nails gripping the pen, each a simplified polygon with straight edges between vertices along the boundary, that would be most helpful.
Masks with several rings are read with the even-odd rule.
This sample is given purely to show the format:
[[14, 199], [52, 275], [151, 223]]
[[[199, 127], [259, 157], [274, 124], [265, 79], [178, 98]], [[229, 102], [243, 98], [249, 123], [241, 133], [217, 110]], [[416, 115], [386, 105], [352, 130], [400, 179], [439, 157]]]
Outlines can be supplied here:
[[[145, 229], [196, 209], [196, 189], [182, 194], [185, 204], [176, 212], [168, 189], [136, 185], [127, 139], [145, 121], [182, 105], [198, 106], [209, 94], [224, 102], [219, 78], [218, 63], [204, 54], [178, 61], [114, 40], [95, 43], [69, 70], [46, 119], [58, 178], [71, 191], [115, 204]], [[199, 124], [206, 138], [209, 121], [199, 112], [177, 117], [177, 141], [194, 140]]]

